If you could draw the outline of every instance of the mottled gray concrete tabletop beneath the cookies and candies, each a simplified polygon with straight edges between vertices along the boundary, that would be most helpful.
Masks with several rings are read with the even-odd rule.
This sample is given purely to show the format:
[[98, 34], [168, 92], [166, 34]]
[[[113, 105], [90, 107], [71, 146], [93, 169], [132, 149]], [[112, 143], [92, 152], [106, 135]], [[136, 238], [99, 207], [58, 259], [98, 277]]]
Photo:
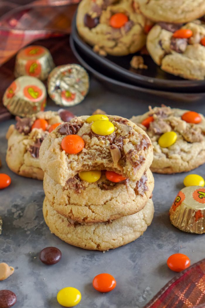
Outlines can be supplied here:
[[[117, 89], [116, 89], [117, 90]], [[94, 79], [85, 101], [70, 108], [76, 115], [89, 115], [97, 108], [108, 114], [124, 117], [147, 111], [148, 104], [162, 101], [117, 95], [107, 91]], [[168, 101], [163, 103], [169, 104]], [[205, 113], [203, 105], [172, 104]], [[49, 102], [48, 109], [57, 110]], [[6, 166], [7, 128], [14, 120], [0, 123], [0, 172], [11, 176], [11, 185], [0, 191], [0, 216], [3, 232], [0, 236], [0, 262], [15, 268], [14, 274], [0, 282], [1, 289], [17, 295], [15, 308], [57, 308], [58, 290], [66, 286], [81, 291], [82, 308], [140, 308], [143, 307], [176, 274], [167, 265], [173, 253], [185, 253], [191, 264], [204, 258], [204, 235], [183, 233], [169, 222], [168, 210], [183, 188], [186, 174], [157, 175], [153, 201], [155, 215], [152, 225], [142, 237], [124, 247], [102, 253], [70, 246], [51, 234], [42, 215], [44, 192], [42, 182], [17, 176]], [[193, 173], [189, 172], [189, 173]], [[194, 173], [205, 176], [205, 166]], [[46, 246], [56, 246], [62, 252], [61, 261], [46, 266], [39, 260], [39, 252]], [[108, 294], [98, 293], [92, 287], [95, 275], [107, 272], [116, 278], [116, 289]]]

